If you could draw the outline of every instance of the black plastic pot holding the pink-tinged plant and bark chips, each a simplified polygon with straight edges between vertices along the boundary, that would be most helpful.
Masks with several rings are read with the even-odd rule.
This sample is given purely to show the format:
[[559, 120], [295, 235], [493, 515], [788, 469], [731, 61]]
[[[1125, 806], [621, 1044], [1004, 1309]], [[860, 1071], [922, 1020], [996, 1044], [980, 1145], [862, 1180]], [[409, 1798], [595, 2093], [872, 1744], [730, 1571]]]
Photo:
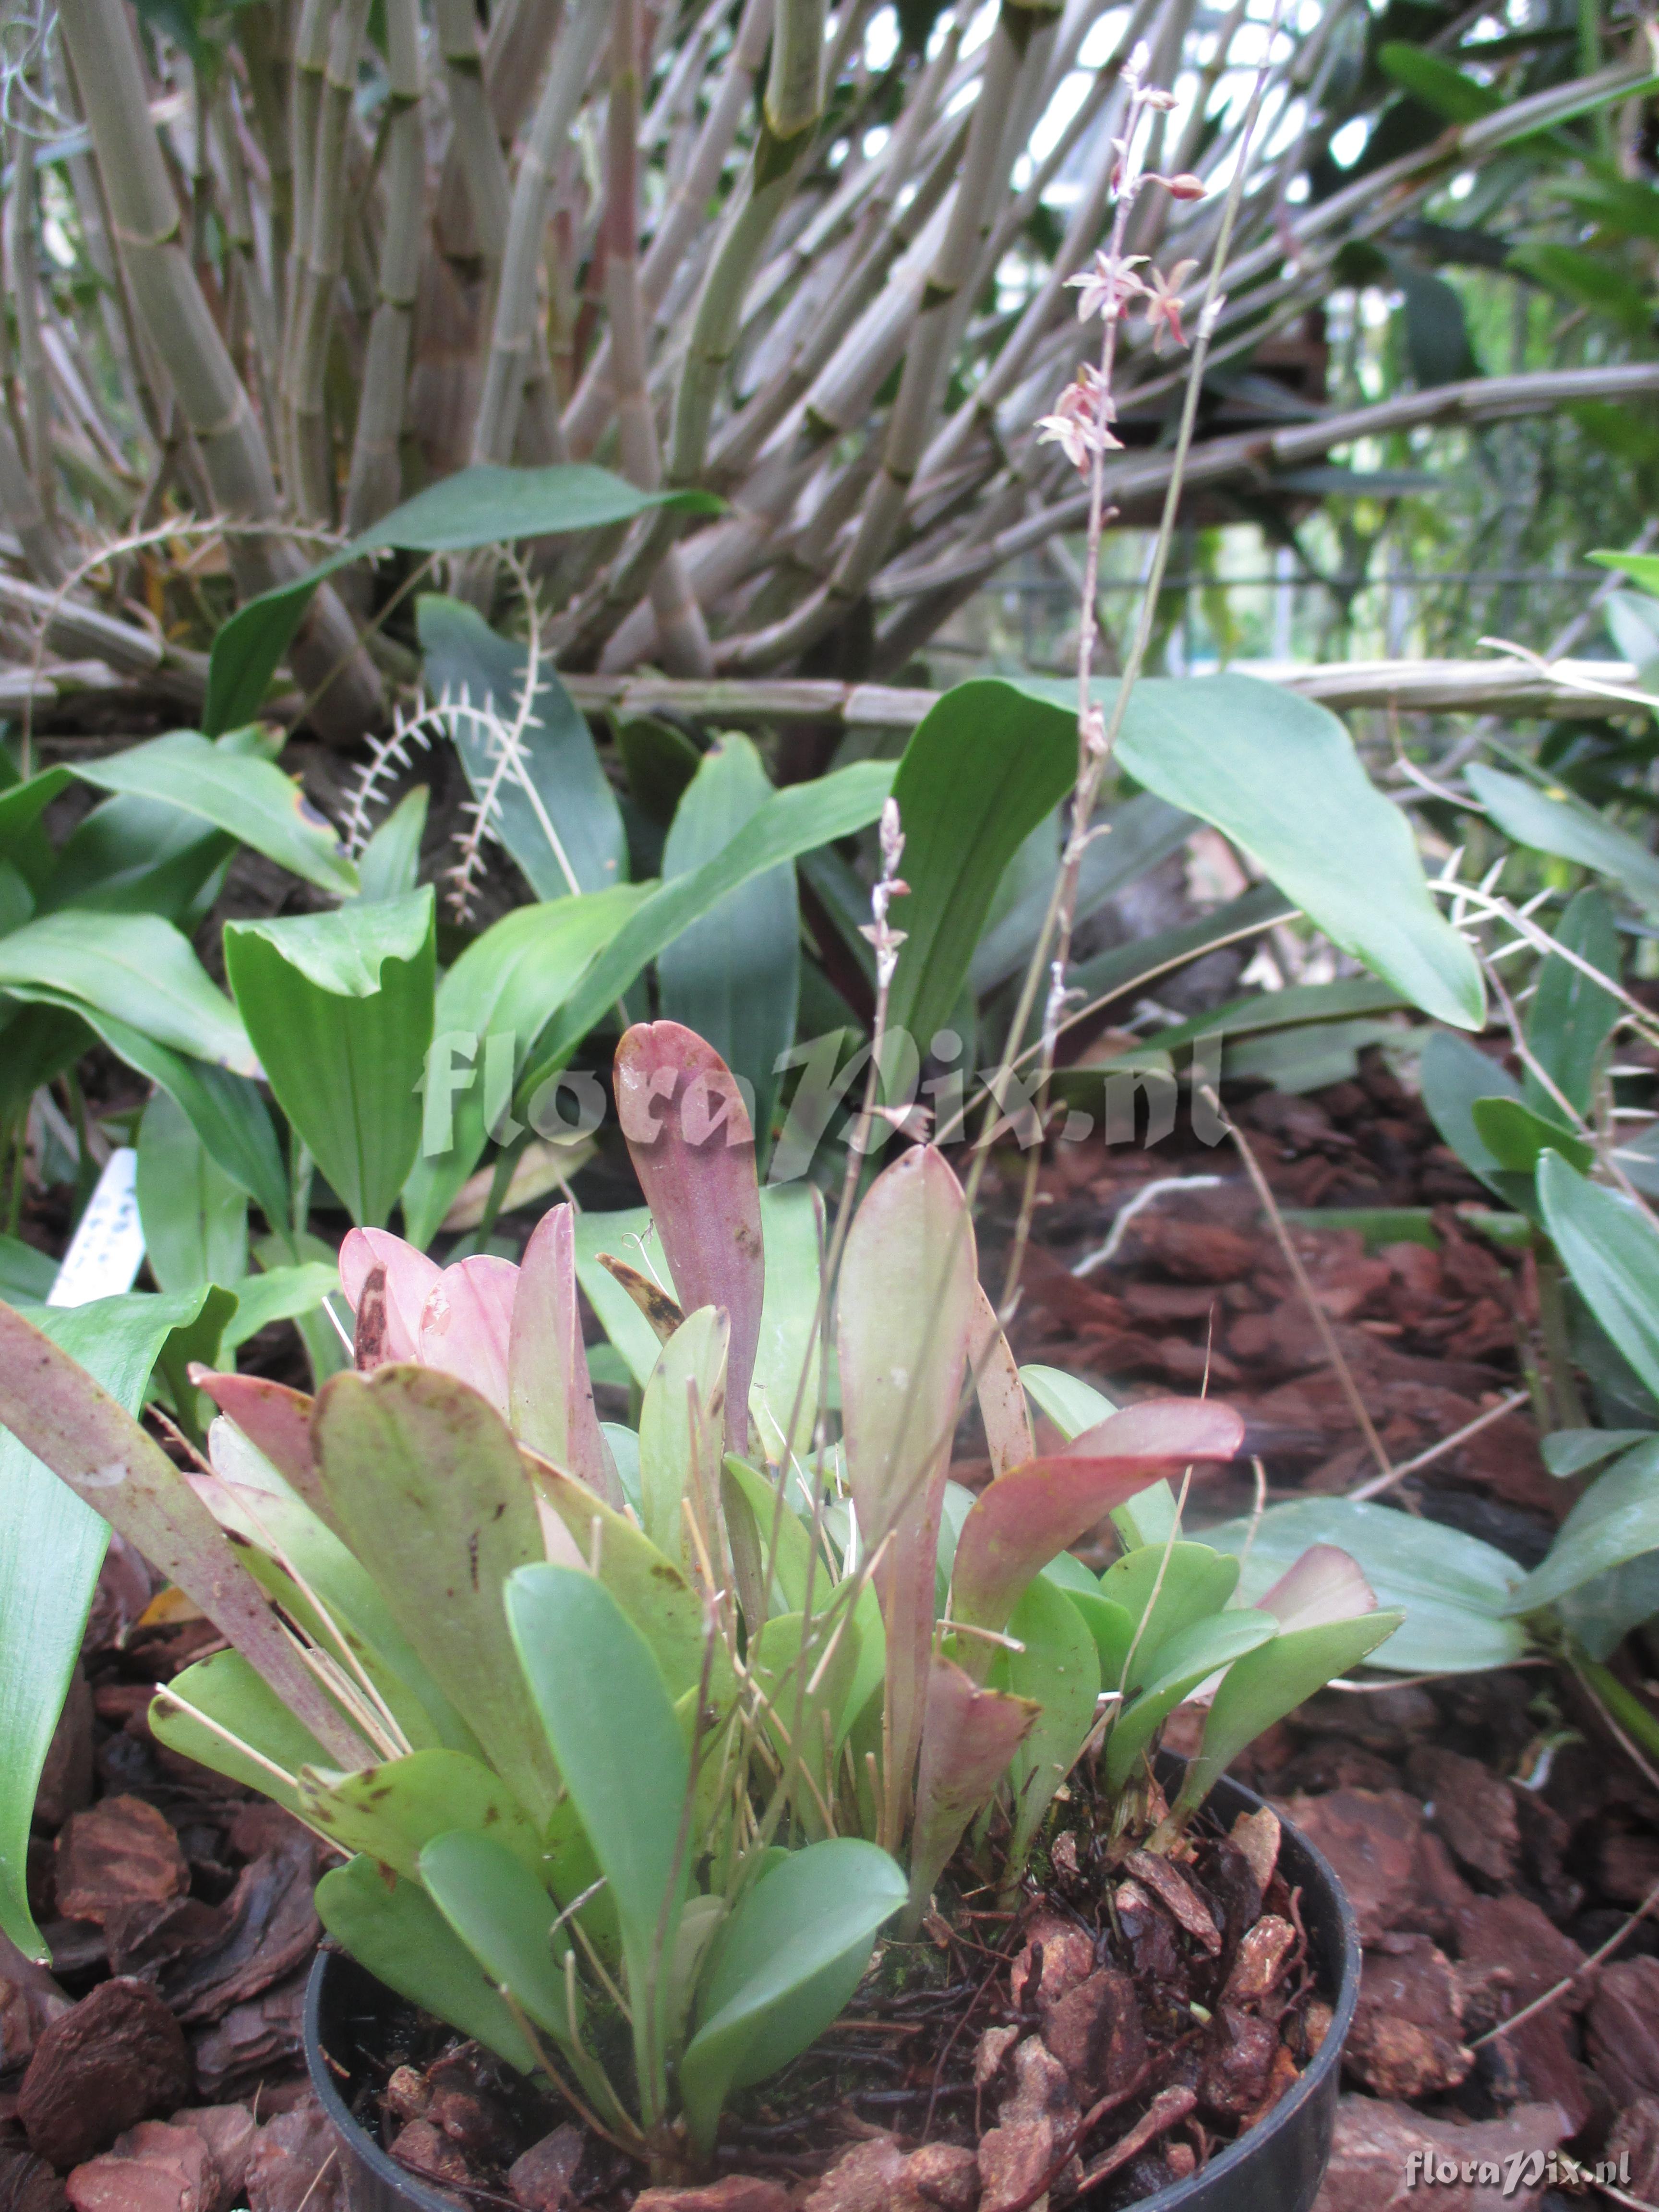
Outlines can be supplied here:
[[[1256, 1812], [1261, 1798], [1223, 1776], [1210, 1809], [1228, 1825]], [[1327, 1860], [1294, 1827], [1285, 1827], [1279, 1865], [1301, 1889], [1301, 1916], [1318, 1989], [1332, 2006], [1332, 2026], [1318, 2057], [1272, 2112], [1190, 2181], [1144, 2197], [1135, 2212], [1310, 2212], [1332, 2154], [1332, 2119], [1343, 2042], [1360, 1991], [1360, 1938], [1354, 1909]], [[352, 2183], [352, 2212], [453, 2212], [465, 2203], [449, 2190], [416, 2181], [352, 2119], [349, 2101], [385, 2073], [392, 2022], [403, 2000], [341, 1951], [319, 1951], [305, 1991], [305, 2064], [323, 2110], [341, 2139], [341, 2161]], [[327, 2055], [325, 2055], [327, 2053]]]

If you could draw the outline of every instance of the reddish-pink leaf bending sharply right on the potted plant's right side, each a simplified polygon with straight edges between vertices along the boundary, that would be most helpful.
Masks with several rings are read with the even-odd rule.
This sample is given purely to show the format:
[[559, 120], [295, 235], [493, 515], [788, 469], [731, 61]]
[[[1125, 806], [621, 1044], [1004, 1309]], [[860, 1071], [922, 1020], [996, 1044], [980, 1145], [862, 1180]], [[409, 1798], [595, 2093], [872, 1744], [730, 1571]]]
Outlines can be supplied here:
[[[1020, 1593], [1106, 1513], [1197, 1460], [1230, 1460], [1243, 1420], [1214, 1398], [1152, 1398], [1097, 1422], [1053, 1458], [980, 1491], [956, 1546], [951, 1619], [1002, 1630]], [[989, 1648], [964, 1652], [982, 1672]]]

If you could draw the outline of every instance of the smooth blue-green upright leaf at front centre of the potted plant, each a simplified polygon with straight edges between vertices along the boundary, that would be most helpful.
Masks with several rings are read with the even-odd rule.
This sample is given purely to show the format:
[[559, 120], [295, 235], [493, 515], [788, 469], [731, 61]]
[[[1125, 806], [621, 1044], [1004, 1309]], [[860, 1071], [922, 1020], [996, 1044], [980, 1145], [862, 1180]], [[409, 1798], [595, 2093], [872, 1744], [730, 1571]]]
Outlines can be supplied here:
[[[664, 2068], [668, 1960], [695, 1845], [690, 1763], [661, 1668], [611, 1590], [575, 1566], [524, 1566], [507, 1619], [546, 1741], [622, 1922], [641, 2099]], [[712, 1632], [712, 1630], [710, 1630]], [[646, 2115], [653, 2117], [650, 2112]]]

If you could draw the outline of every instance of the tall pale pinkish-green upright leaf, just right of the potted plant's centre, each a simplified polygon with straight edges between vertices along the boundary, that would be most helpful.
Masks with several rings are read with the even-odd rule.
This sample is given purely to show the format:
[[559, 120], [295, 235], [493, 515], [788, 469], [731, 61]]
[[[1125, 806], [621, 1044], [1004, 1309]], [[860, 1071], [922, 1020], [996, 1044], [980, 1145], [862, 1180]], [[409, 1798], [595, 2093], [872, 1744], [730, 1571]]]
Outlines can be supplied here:
[[978, 1261], [962, 1186], [933, 1146], [876, 1177], [836, 1287], [843, 1444], [887, 1619], [887, 1836], [909, 1812], [933, 1648], [933, 1562]]

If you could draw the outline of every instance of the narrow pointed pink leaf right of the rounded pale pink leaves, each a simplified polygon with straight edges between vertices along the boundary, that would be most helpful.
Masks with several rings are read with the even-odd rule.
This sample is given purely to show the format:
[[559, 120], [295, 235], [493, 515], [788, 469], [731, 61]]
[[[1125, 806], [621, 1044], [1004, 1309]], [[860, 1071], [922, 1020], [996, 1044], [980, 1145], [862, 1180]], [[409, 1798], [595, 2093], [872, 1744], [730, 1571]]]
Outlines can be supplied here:
[[524, 1245], [507, 1338], [507, 1425], [522, 1444], [622, 1511], [622, 1482], [593, 1411], [568, 1206], [542, 1214]]

